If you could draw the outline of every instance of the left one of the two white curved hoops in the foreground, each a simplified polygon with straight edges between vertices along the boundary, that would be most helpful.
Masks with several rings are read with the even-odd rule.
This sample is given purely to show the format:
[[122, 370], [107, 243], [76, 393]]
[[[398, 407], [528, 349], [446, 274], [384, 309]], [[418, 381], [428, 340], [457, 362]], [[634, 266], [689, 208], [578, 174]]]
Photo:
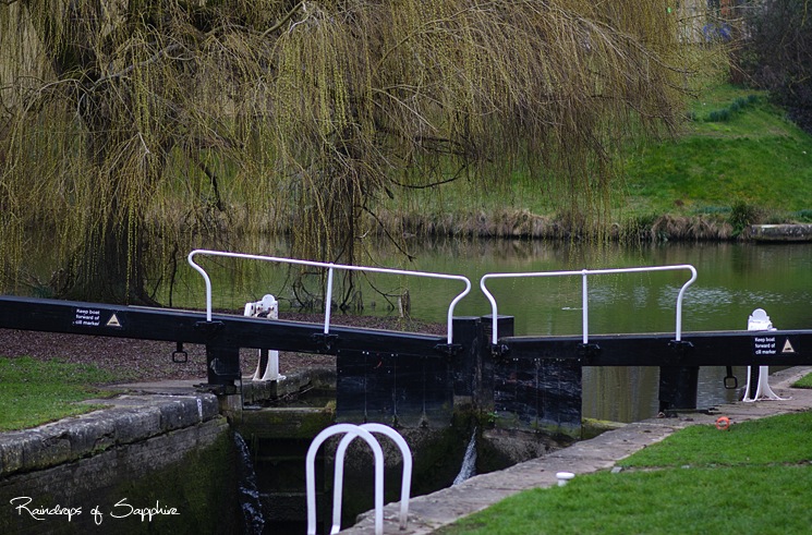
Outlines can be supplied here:
[[[352, 438], [363, 438], [375, 455], [375, 535], [381, 535], [384, 533], [384, 451], [372, 433], [354, 424], [336, 424], [322, 430], [307, 449], [304, 469], [307, 491], [307, 535], [315, 535], [316, 533], [316, 453], [325, 440], [340, 433], [346, 433]], [[336, 462], [339, 462], [339, 460], [337, 459]], [[343, 463], [343, 459], [341, 463]], [[343, 473], [343, 466], [341, 470]], [[338, 470], [336, 473], [338, 474]], [[334, 485], [343, 486], [343, 482], [335, 481]], [[339, 530], [340, 526], [334, 525], [330, 534], [338, 533]]]

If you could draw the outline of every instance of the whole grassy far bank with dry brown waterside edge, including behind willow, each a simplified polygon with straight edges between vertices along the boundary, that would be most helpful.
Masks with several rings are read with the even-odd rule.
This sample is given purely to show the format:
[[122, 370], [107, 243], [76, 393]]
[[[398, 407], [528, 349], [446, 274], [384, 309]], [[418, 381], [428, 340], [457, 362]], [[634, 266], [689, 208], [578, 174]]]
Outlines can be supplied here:
[[[629, 148], [604, 224], [617, 235], [731, 239], [753, 223], [812, 222], [812, 136], [763, 92], [707, 85], [674, 139]], [[400, 191], [380, 219], [416, 234], [567, 235], [561, 192], [514, 172]]]

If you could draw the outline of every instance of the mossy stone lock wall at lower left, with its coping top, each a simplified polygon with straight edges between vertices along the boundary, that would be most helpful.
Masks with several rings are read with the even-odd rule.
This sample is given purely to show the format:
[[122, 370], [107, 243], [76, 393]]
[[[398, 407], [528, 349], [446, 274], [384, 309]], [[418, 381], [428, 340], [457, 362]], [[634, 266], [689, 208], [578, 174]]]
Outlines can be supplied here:
[[0, 435], [0, 533], [240, 533], [216, 398], [137, 398]]

